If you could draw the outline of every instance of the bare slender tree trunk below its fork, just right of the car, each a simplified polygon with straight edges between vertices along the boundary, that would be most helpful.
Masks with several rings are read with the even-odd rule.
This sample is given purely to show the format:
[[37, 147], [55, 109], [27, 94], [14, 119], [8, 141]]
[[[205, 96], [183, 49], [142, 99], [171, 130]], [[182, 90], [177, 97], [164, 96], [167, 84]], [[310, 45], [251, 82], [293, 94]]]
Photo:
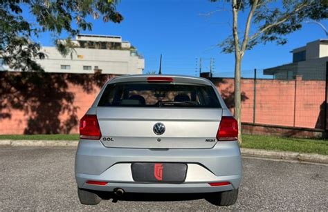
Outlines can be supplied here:
[[235, 119], [238, 122], [238, 142], [242, 144], [242, 92], [240, 90], [242, 57], [235, 55]]

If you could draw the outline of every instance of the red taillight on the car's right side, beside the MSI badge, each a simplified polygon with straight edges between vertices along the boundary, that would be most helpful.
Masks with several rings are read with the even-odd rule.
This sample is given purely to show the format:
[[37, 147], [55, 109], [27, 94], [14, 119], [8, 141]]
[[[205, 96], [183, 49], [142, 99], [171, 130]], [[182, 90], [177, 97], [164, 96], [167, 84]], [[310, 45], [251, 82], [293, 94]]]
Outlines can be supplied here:
[[219, 141], [233, 141], [238, 139], [238, 123], [234, 117], [222, 117], [219, 130], [217, 131], [217, 139]]

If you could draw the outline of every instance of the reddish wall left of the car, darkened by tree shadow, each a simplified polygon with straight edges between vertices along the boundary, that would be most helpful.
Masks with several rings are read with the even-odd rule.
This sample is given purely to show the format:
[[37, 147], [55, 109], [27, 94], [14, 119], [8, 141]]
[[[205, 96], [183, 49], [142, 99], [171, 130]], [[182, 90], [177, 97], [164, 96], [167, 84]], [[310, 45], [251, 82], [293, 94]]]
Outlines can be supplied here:
[[0, 72], [0, 134], [78, 133], [113, 75]]

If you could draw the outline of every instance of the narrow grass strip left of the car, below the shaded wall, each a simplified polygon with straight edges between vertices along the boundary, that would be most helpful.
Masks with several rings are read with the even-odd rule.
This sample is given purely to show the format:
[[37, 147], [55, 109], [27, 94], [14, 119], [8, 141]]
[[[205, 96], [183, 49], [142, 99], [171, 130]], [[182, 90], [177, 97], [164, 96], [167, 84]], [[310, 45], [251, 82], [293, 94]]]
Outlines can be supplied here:
[[52, 135], [0, 135], [0, 139], [10, 140], [69, 140], [79, 139], [78, 134], [52, 134]]

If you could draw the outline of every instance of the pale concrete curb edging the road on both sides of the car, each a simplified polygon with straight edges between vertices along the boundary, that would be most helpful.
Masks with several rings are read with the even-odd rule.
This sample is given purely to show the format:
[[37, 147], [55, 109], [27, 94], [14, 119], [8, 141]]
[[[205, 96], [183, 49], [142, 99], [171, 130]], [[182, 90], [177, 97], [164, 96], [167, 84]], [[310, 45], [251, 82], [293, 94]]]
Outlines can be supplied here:
[[[0, 139], [0, 146], [78, 146], [78, 141], [64, 140], [8, 140]], [[293, 153], [282, 151], [266, 151], [253, 148], [240, 148], [243, 156], [265, 157], [282, 160], [297, 160], [298, 162], [313, 162], [328, 164], [328, 155]]]

